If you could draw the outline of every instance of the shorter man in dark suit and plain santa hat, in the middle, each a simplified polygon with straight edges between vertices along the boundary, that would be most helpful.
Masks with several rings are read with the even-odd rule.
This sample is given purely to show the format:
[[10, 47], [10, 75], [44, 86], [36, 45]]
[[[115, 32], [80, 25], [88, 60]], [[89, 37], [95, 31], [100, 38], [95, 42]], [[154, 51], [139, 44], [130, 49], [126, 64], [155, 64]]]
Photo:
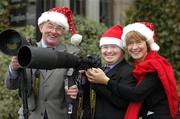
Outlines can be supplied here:
[[[120, 39], [121, 35], [122, 27], [114, 25], [100, 39], [101, 56], [105, 63], [104, 72], [117, 84], [134, 86], [136, 81], [131, 75], [132, 66], [124, 58], [125, 51], [123, 42]], [[89, 75], [87, 76], [90, 82], [93, 83], [94, 80], [91, 80]], [[117, 95], [117, 90], [111, 90], [113, 86], [104, 84], [92, 84], [91, 86], [95, 91], [93, 97], [96, 97], [94, 101], [91, 101], [91, 105], [94, 106], [94, 112], [91, 112], [92, 116], [94, 116], [92, 118], [123, 119], [129, 101]]]

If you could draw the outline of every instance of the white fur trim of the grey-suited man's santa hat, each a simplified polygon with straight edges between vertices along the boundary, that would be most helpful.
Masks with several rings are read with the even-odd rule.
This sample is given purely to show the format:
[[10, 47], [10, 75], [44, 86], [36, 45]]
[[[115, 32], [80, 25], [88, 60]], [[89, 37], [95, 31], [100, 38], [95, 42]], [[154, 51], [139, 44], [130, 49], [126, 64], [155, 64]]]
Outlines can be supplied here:
[[69, 30], [68, 20], [65, 17], [65, 15], [61, 13], [54, 12], [54, 11], [47, 11], [47, 12], [42, 13], [38, 19], [38, 25], [48, 20], [64, 27], [66, 31]]

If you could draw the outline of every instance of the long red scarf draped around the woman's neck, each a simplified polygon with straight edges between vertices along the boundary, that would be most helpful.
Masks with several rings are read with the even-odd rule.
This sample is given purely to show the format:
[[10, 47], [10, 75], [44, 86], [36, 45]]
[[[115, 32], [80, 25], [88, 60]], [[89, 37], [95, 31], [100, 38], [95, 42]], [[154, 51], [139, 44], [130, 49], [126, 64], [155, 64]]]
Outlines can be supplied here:
[[[155, 51], [150, 51], [144, 62], [133, 64], [133, 76], [140, 82], [148, 72], [156, 71], [164, 87], [170, 112], [173, 118], [178, 111], [178, 96], [176, 92], [176, 79], [171, 64]], [[143, 102], [130, 102], [124, 119], [137, 119]]]

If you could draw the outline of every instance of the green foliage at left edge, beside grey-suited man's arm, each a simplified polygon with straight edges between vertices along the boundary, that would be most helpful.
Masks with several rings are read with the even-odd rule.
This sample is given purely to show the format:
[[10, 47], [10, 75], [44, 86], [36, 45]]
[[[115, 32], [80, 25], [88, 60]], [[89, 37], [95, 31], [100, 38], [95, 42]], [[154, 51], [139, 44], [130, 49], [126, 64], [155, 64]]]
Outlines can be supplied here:
[[4, 77], [9, 60], [8, 56], [0, 55], [0, 119], [7, 119], [10, 115], [17, 117], [17, 113], [14, 113], [14, 111], [17, 112], [19, 104], [17, 91], [9, 91], [4, 86]]

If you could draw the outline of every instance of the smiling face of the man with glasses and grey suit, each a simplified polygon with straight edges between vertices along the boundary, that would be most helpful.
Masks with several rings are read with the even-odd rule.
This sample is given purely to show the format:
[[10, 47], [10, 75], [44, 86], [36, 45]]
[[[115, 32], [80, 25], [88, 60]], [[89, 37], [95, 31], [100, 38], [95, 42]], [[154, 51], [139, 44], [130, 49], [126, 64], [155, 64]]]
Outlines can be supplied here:
[[64, 34], [65, 29], [56, 23], [47, 21], [39, 25], [42, 39], [48, 47], [59, 44], [59, 38]]

